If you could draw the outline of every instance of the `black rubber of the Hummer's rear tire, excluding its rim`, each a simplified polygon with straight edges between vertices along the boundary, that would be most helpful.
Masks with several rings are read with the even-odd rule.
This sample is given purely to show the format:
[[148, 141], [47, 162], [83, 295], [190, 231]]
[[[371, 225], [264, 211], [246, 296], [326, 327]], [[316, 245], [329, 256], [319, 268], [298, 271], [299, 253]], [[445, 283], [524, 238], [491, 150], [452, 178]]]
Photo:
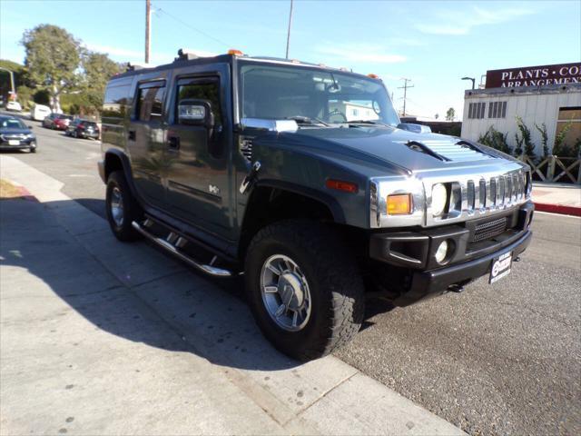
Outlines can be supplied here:
[[[123, 218], [121, 219], [121, 223], [117, 223], [113, 218], [112, 200], [115, 189], [121, 193], [120, 203], [123, 204]], [[105, 194], [105, 208], [107, 221], [109, 221], [111, 230], [119, 241], [135, 241], [140, 238], [140, 233], [133, 229], [132, 223], [133, 221], [143, 219], [143, 210], [133, 198], [123, 171], [115, 171], [109, 174], [109, 178], [107, 179], [107, 192]]]

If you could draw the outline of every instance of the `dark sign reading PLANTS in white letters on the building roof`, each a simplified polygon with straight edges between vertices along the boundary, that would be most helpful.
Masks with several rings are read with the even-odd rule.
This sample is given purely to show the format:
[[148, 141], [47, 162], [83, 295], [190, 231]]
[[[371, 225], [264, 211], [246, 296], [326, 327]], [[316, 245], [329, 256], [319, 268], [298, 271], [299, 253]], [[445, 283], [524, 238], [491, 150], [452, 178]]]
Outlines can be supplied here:
[[581, 63], [488, 70], [486, 88], [581, 84]]

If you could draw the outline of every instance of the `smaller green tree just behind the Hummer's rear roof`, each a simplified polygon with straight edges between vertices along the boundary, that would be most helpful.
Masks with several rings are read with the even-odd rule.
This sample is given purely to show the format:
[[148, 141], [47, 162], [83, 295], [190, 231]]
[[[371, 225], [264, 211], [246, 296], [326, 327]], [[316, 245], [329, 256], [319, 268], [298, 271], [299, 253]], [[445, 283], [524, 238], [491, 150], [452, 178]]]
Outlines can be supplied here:
[[116, 64], [107, 54], [84, 51], [82, 56], [84, 70], [81, 90], [91, 109], [101, 111], [103, 94], [107, 82], [114, 74], [123, 71], [120, 64]]

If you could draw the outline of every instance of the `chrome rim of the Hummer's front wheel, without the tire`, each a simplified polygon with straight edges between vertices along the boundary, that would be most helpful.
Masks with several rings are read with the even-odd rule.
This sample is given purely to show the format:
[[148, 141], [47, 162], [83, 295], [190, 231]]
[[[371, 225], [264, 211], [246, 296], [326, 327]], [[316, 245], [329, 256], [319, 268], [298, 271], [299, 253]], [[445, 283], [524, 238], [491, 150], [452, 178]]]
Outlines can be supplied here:
[[274, 254], [262, 265], [261, 296], [266, 311], [281, 329], [302, 330], [310, 319], [309, 283], [290, 257]]

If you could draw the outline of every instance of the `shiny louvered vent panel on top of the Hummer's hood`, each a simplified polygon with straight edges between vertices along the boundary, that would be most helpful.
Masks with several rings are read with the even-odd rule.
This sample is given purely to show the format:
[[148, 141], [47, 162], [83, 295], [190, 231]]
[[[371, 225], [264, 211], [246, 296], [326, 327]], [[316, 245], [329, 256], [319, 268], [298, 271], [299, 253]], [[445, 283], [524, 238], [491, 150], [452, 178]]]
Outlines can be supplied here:
[[492, 154], [487, 154], [477, 144], [468, 141], [409, 141], [405, 143], [410, 150], [428, 154], [443, 162], [485, 161], [495, 159]]

